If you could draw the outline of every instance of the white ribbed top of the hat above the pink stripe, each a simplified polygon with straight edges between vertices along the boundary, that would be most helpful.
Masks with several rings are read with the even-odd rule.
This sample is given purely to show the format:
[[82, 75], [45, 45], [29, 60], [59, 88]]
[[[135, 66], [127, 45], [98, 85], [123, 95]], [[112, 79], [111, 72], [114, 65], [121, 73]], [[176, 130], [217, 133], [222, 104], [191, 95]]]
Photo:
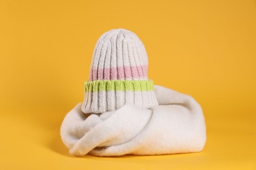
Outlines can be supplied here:
[[132, 31], [111, 29], [96, 42], [91, 70], [138, 65], [148, 65], [148, 54], [138, 35]]

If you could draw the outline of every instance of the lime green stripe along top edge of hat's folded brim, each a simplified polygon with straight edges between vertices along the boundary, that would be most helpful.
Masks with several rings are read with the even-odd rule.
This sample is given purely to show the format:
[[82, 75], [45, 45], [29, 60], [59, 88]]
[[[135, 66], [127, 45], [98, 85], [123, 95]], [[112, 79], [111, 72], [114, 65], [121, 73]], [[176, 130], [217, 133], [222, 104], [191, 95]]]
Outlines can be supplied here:
[[153, 80], [95, 80], [85, 82], [85, 92], [107, 91], [154, 91]]

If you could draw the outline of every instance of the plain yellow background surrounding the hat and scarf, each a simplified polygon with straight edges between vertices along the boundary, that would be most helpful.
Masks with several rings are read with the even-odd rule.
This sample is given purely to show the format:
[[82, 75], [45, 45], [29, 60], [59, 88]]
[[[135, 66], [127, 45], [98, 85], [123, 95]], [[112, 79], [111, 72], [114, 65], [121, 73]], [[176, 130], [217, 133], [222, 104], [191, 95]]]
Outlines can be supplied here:
[[[203, 152], [75, 158], [60, 140], [95, 43], [135, 32], [155, 84], [203, 108]], [[1, 169], [256, 169], [256, 1], [0, 0]]]

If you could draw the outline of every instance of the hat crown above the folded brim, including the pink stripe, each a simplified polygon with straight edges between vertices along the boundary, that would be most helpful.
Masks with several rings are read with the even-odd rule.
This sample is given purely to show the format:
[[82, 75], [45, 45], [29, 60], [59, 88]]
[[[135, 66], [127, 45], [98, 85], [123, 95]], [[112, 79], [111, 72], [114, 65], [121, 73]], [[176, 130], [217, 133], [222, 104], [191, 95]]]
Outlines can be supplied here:
[[89, 80], [147, 80], [148, 56], [139, 37], [111, 29], [96, 42]]

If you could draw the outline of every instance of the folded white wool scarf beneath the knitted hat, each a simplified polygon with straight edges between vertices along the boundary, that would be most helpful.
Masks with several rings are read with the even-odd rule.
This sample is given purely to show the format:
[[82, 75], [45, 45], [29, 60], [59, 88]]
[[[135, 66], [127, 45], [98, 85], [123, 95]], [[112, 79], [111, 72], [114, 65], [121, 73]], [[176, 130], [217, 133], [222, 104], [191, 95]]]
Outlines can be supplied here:
[[102, 114], [84, 114], [81, 103], [62, 122], [60, 135], [74, 156], [159, 155], [200, 152], [206, 129], [202, 108], [190, 96], [155, 86], [160, 105], [126, 104]]

